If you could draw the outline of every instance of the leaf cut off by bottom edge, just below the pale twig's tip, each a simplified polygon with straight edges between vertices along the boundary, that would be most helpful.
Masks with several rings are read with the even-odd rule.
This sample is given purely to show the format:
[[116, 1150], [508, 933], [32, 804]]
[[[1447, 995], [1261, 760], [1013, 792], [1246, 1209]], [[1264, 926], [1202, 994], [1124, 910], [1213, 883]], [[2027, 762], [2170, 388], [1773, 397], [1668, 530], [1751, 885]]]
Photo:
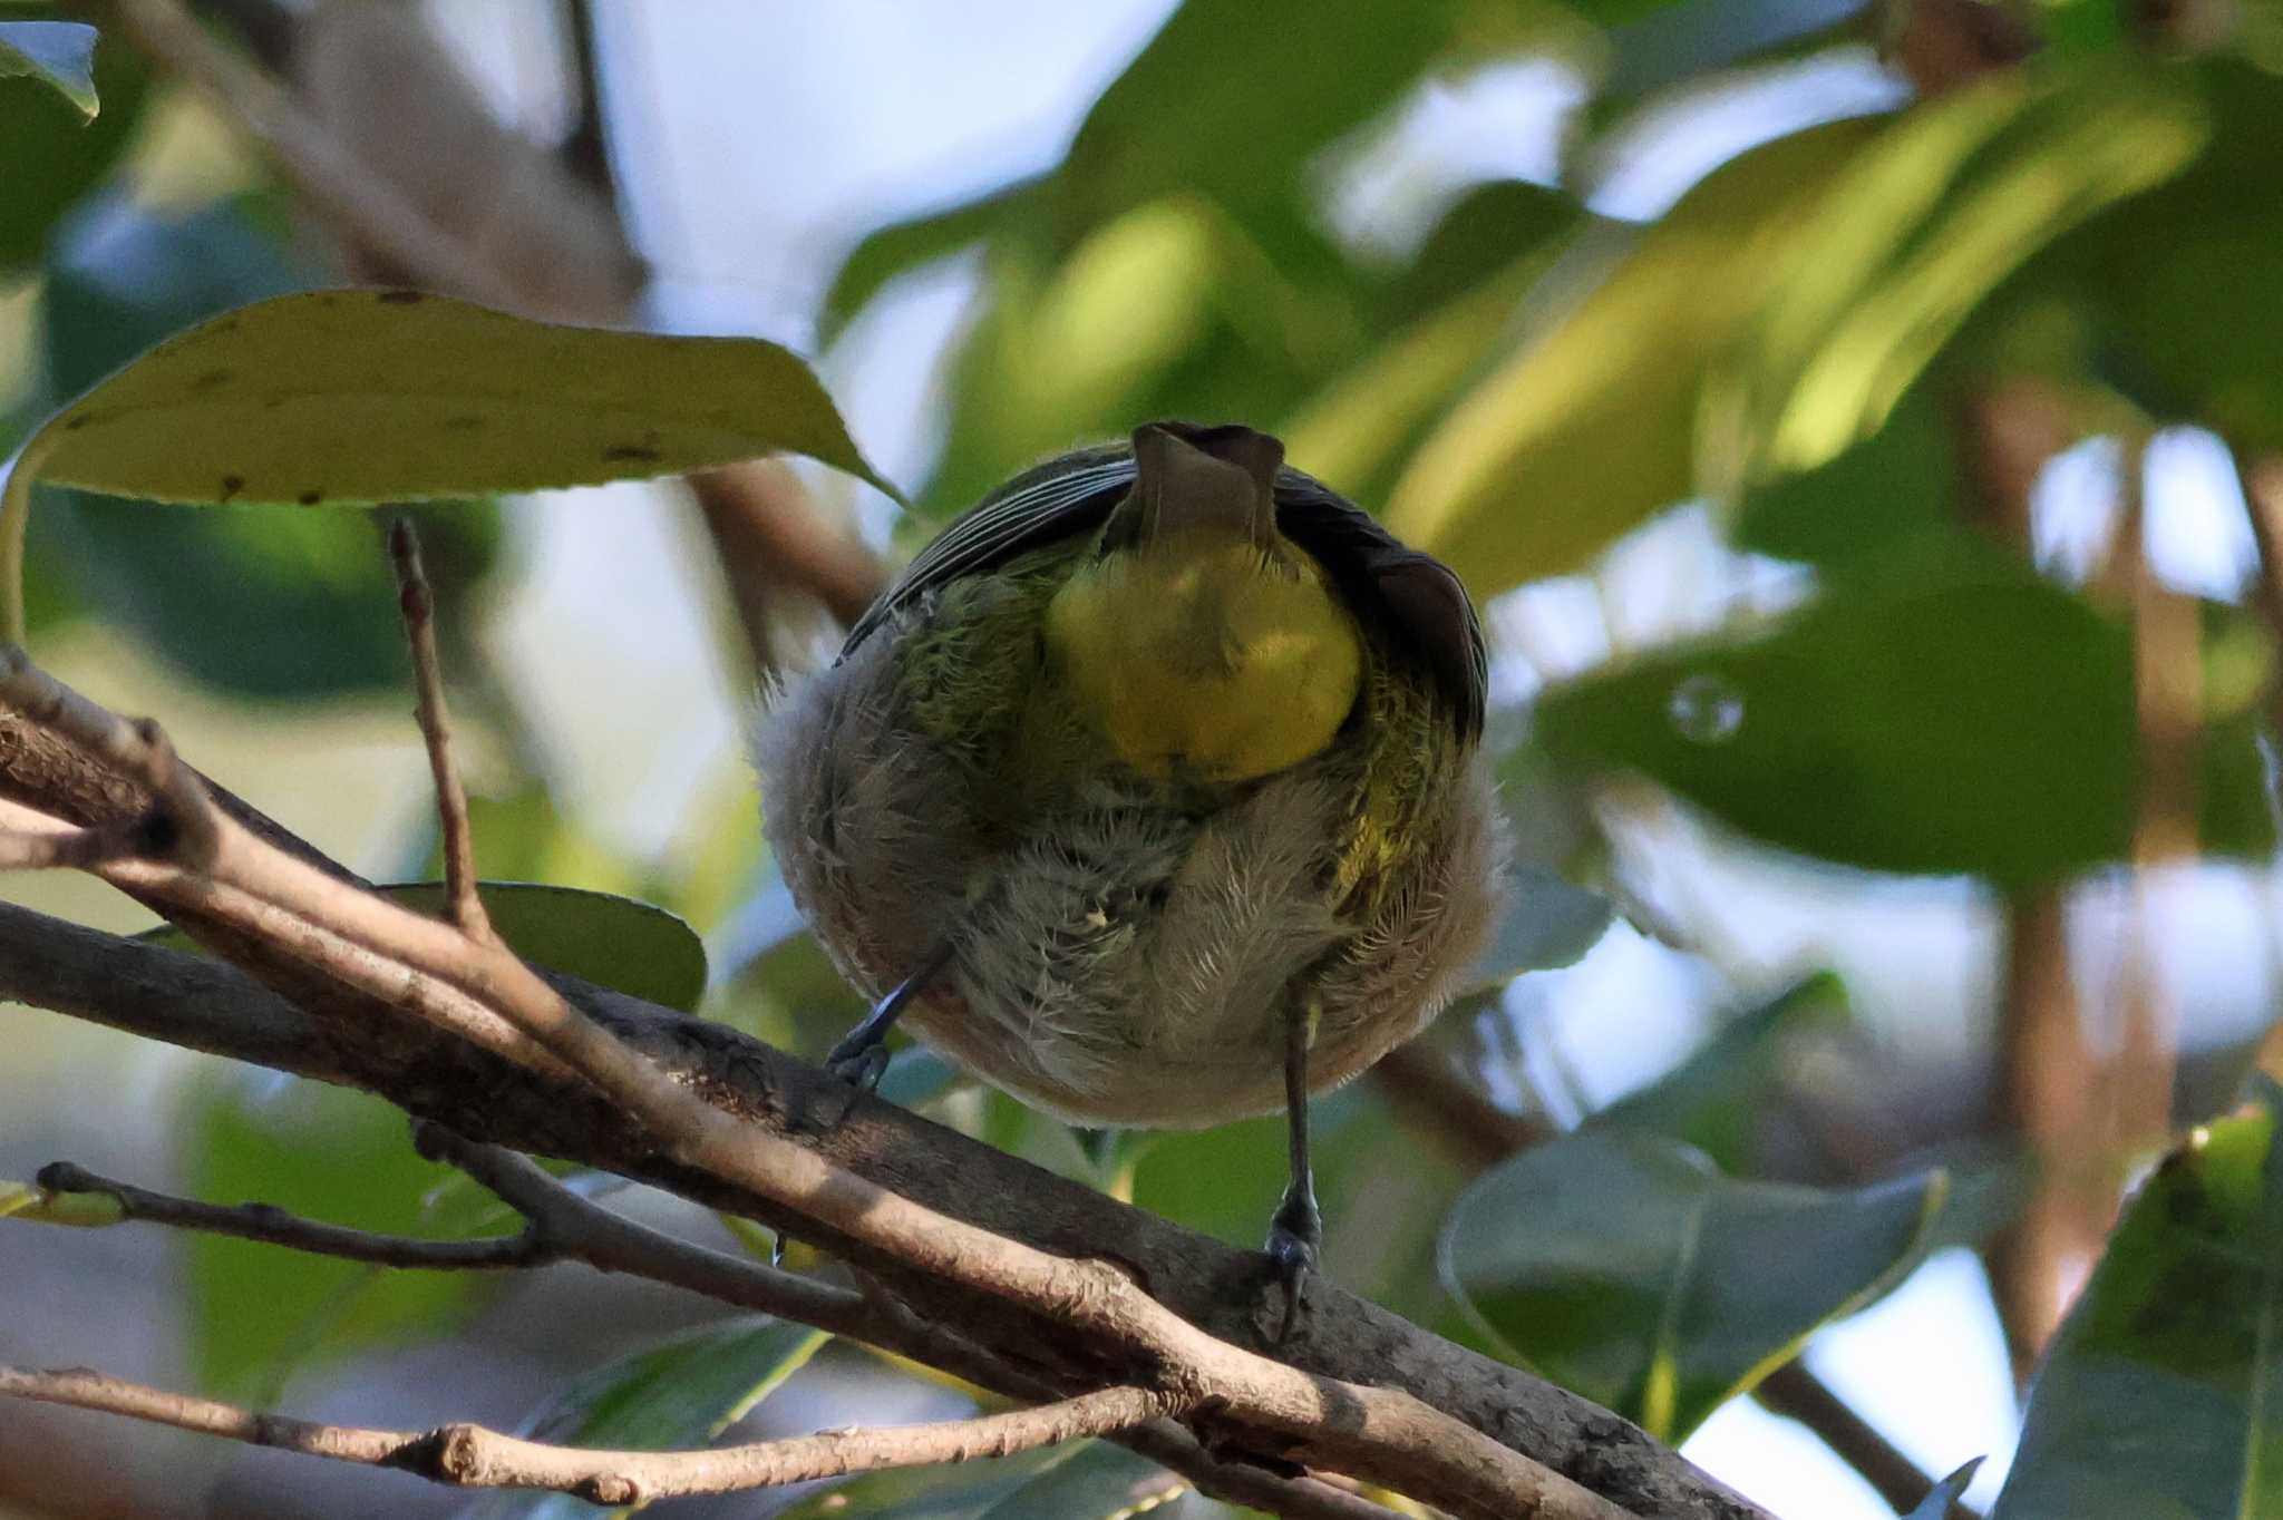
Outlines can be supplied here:
[[1187, 1488], [1107, 1440], [943, 1468], [870, 1472], [797, 1504], [785, 1520], [1123, 1520]]

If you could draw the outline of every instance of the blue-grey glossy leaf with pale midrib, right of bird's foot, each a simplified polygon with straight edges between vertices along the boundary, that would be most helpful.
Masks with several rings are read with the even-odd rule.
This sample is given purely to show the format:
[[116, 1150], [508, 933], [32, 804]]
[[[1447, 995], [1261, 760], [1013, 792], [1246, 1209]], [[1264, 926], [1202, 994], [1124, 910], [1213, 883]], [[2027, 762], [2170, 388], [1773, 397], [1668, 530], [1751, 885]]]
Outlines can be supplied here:
[[1918, 1258], [1941, 1171], [1858, 1189], [1724, 1178], [1676, 1141], [1591, 1127], [1484, 1173], [1443, 1280], [1514, 1363], [1683, 1440]]

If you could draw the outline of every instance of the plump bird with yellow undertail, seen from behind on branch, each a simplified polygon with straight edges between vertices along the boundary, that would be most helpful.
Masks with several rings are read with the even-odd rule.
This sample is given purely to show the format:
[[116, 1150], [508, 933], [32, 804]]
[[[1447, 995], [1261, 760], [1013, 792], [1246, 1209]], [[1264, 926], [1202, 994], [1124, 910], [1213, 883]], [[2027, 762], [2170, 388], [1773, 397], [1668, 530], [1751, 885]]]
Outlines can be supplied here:
[[[1308, 1095], [1463, 991], [1500, 911], [1459, 577], [1240, 425], [1146, 422], [954, 518], [765, 703], [763, 824], [872, 1013], [1091, 1127], [1283, 1109], [1283, 1333], [1322, 1248]], [[854, 1095], [852, 1095], [854, 1102]]]

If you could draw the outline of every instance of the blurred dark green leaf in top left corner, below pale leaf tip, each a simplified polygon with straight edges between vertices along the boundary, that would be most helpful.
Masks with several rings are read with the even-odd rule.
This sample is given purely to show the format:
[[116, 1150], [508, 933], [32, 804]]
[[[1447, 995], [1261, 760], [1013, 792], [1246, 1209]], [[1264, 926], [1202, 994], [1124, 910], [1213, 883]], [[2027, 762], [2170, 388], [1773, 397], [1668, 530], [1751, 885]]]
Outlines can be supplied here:
[[[23, 7], [59, 16], [53, 5]], [[103, 114], [80, 107], [37, 82], [0, 82], [0, 144], [7, 180], [0, 187], [0, 274], [39, 260], [55, 221], [126, 153], [142, 123], [148, 73], [132, 48], [96, 48], [94, 87]]]

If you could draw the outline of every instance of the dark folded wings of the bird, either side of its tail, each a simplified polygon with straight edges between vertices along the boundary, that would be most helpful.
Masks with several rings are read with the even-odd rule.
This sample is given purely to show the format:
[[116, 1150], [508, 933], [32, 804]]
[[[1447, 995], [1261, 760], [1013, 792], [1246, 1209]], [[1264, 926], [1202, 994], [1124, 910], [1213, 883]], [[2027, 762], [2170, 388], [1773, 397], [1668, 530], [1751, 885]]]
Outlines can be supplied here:
[[[1080, 450], [1025, 470], [920, 550], [902, 580], [856, 618], [840, 655], [961, 575], [1094, 532], [1132, 482], [1135, 459], [1123, 445]], [[1404, 548], [1361, 507], [1290, 466], [1276, 472], [1276, 527], [1324, 566], [1361, 618], [1395, 632], [1397, 646], [1434, 678], [1459, 733], [1479, 737], [1491, 662], [1475, 603], [1450, 566]]]

